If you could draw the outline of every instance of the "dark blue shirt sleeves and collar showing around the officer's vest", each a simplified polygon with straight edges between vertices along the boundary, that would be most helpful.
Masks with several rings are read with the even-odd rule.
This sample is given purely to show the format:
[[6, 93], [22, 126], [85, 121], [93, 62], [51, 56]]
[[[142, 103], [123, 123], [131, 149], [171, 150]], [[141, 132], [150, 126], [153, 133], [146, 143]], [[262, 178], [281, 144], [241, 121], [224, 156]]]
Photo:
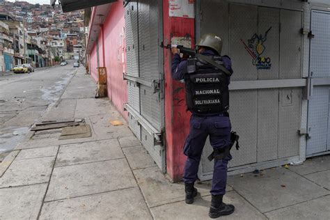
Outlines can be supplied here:
[[[212, 50], [205, 50], [201, 54], [205, 56], [214, 56], [214, 52]], [[227, 70], [233, 73], [233, 69], [231, 68], [231, 61], [229, 56], [222, 56], [223, 65]], [[181, 59], [179, 54], [175, 54], [172, 60], [172, 78], [174, 80], [182, 80], [184, 79], [184, 74], [187, 74], [187, 60]], [[229, 82], [229, 80], [228, 80]]]

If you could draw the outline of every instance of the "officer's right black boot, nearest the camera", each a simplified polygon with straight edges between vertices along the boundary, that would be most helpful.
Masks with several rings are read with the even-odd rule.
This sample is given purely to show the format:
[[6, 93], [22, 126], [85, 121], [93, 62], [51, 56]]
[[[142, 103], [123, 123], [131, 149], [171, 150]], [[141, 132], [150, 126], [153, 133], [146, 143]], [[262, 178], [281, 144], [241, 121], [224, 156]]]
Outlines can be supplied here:
[[234, 205], [227, 205], [222, 202], [223, 195], [212, 195], [209, 217], [215, 219], [223, 215], [232, 214], [235, 210]]

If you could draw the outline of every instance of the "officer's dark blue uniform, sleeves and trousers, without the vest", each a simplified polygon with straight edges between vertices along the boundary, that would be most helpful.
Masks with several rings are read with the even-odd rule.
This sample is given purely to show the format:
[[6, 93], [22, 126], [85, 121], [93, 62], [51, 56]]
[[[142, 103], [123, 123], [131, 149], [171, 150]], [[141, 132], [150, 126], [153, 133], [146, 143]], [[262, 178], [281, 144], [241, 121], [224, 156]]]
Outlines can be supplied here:
[[[202, 53], [206, 56], [214, 56], [211, 50]], [[231, 61], [228, 56], [223, 56], [223, 65], [230, 71]], [[172, 77], [175, 80], [184, 79], [187, 74], [187, 61], [181, 60], [179, 54], [173, 56]], [[228, 80], [229, 82], [229, 80]], [[184, 166], [184, 182], [191, 183], [197, 180], [198, 166], [201, 162], [201, 155], [207, 136], [210, 136], [210, 144], [213, 148], [226, 148], [230, 145], [230, 119], [227, 113], [196, 114], [193, 113], [190, 119], [189, 136], [184, 143], [184, 155], [187, 155], [187, 162]], [[225, 159], [214, 160], [214, 171], [212, 180], [212, 195], [223, 195], [226, 193], [228, 155]]]

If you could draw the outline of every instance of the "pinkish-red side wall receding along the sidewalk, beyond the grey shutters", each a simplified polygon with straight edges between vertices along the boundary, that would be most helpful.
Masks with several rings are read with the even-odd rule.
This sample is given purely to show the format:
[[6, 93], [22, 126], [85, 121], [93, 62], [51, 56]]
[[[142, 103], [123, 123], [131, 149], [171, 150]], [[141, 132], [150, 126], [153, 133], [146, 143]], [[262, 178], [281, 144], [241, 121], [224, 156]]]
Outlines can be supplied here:
[[[127, 84], [123, 80], [126, 64], [124, 16], [123, 1], [112, 3], [98, 36], [98, 50], [100, 67], [105, 66], [107, 68], [108, 97], [124, 118], [128, 120], [127, 112], [123, 110], [123, 105], [127, 102]], [[91, 75], [95, 81], [98, 80], [96, 68], [97, 50], [95, 43], [91, 51]]]

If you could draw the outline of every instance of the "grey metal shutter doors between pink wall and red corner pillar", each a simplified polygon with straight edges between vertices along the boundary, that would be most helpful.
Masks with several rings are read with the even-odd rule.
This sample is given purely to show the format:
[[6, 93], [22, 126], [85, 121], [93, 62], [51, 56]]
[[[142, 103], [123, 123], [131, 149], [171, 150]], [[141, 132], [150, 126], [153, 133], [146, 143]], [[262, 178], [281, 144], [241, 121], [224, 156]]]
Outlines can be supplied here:
[[[134, 133], [139, 135], [143, 146], [165, 172], [166, 159], [162, 141], [164, 68], [162, 50], [159, 47], [159, 42], [162, 41], [162, 1], [132, 1], [126, 6], [126, 11], [132, 11], [132, 8], [136, 9], [134, 18], [126, 21], [126, 32], [131, 29], [127, 38], [132, 38], [134, 43], [130, 44], [132, 51], [127, 52], [127, 73], [124, 77], [130, 91], [125, 108], [129, 111], [130, 118], [134, 118], [129, 120], [136, 121], [135, 124], [130, 122], [129, 126], [132, 130], [139, 129], [139, 132]], [[133, 25], [135, 19], [136, 24]], [[127, 49], [128, 47], [127, 43]], [[132, 58], [135, 59], [132, 61]]]

